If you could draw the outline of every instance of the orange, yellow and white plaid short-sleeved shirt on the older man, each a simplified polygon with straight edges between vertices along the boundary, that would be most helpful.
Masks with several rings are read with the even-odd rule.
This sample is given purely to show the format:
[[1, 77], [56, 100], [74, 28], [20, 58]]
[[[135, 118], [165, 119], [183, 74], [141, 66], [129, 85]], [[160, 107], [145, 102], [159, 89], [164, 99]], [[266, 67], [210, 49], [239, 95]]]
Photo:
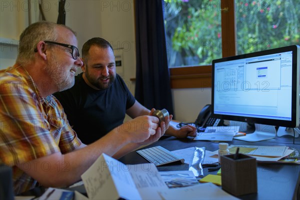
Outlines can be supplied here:
[[[67, 153], [80, 144], [59, 101], [53, 95], [41, 97], [22, 66], [0, 70], [0, 161], [12, 167], [16, 194], [37, 184], [17, 163], [59, 151]], [[45, 170], [57, 167], [42, 166]]]

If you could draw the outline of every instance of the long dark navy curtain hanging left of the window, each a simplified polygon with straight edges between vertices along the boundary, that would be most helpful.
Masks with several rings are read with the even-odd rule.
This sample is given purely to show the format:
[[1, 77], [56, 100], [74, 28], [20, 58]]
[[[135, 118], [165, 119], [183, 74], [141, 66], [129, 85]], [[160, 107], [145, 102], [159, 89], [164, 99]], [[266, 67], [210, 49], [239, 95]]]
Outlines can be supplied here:
[[173, 114], [162, 8], [163, 0], [135, 0], [135, 98], [149, 109]]

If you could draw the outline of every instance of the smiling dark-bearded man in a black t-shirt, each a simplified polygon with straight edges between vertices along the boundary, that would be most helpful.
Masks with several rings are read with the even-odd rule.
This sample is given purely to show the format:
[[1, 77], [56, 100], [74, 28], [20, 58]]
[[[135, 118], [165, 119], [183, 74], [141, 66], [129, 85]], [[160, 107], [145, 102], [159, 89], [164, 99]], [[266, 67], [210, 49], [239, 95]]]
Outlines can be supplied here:
[[[91, 143], [122, 124], [125, 114], [134, 118], [150, 112], [116, 74], [113, 49], [107, 40], [87, 40], [82, 46], [82, 60], [83, 72], [75, 76], [74, 86], [53, 95], [84, 143]], [[195, 136], [196, 128], [185, 125], [177, 129], [170, 125], [165, 133], [178, 138]]]

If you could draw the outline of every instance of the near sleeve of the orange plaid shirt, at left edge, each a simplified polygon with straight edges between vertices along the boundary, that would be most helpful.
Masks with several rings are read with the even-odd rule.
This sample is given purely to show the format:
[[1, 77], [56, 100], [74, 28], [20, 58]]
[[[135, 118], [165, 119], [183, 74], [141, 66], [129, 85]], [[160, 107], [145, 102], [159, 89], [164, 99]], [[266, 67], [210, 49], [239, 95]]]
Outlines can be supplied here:
[[1, 79], [0, 94], [1, 161], [12, 166], [60, 151], [35, 91], [10, 78]]

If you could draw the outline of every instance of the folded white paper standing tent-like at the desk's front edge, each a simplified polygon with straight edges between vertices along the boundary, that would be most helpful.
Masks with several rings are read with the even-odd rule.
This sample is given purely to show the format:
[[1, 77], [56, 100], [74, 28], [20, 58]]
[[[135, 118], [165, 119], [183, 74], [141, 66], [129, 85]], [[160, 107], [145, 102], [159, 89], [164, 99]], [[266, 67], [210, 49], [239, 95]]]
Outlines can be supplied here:
[[168, 189], [153, 163], [125, 165], [102, 153], [81, 175], [88, 199], [161, 199]]

